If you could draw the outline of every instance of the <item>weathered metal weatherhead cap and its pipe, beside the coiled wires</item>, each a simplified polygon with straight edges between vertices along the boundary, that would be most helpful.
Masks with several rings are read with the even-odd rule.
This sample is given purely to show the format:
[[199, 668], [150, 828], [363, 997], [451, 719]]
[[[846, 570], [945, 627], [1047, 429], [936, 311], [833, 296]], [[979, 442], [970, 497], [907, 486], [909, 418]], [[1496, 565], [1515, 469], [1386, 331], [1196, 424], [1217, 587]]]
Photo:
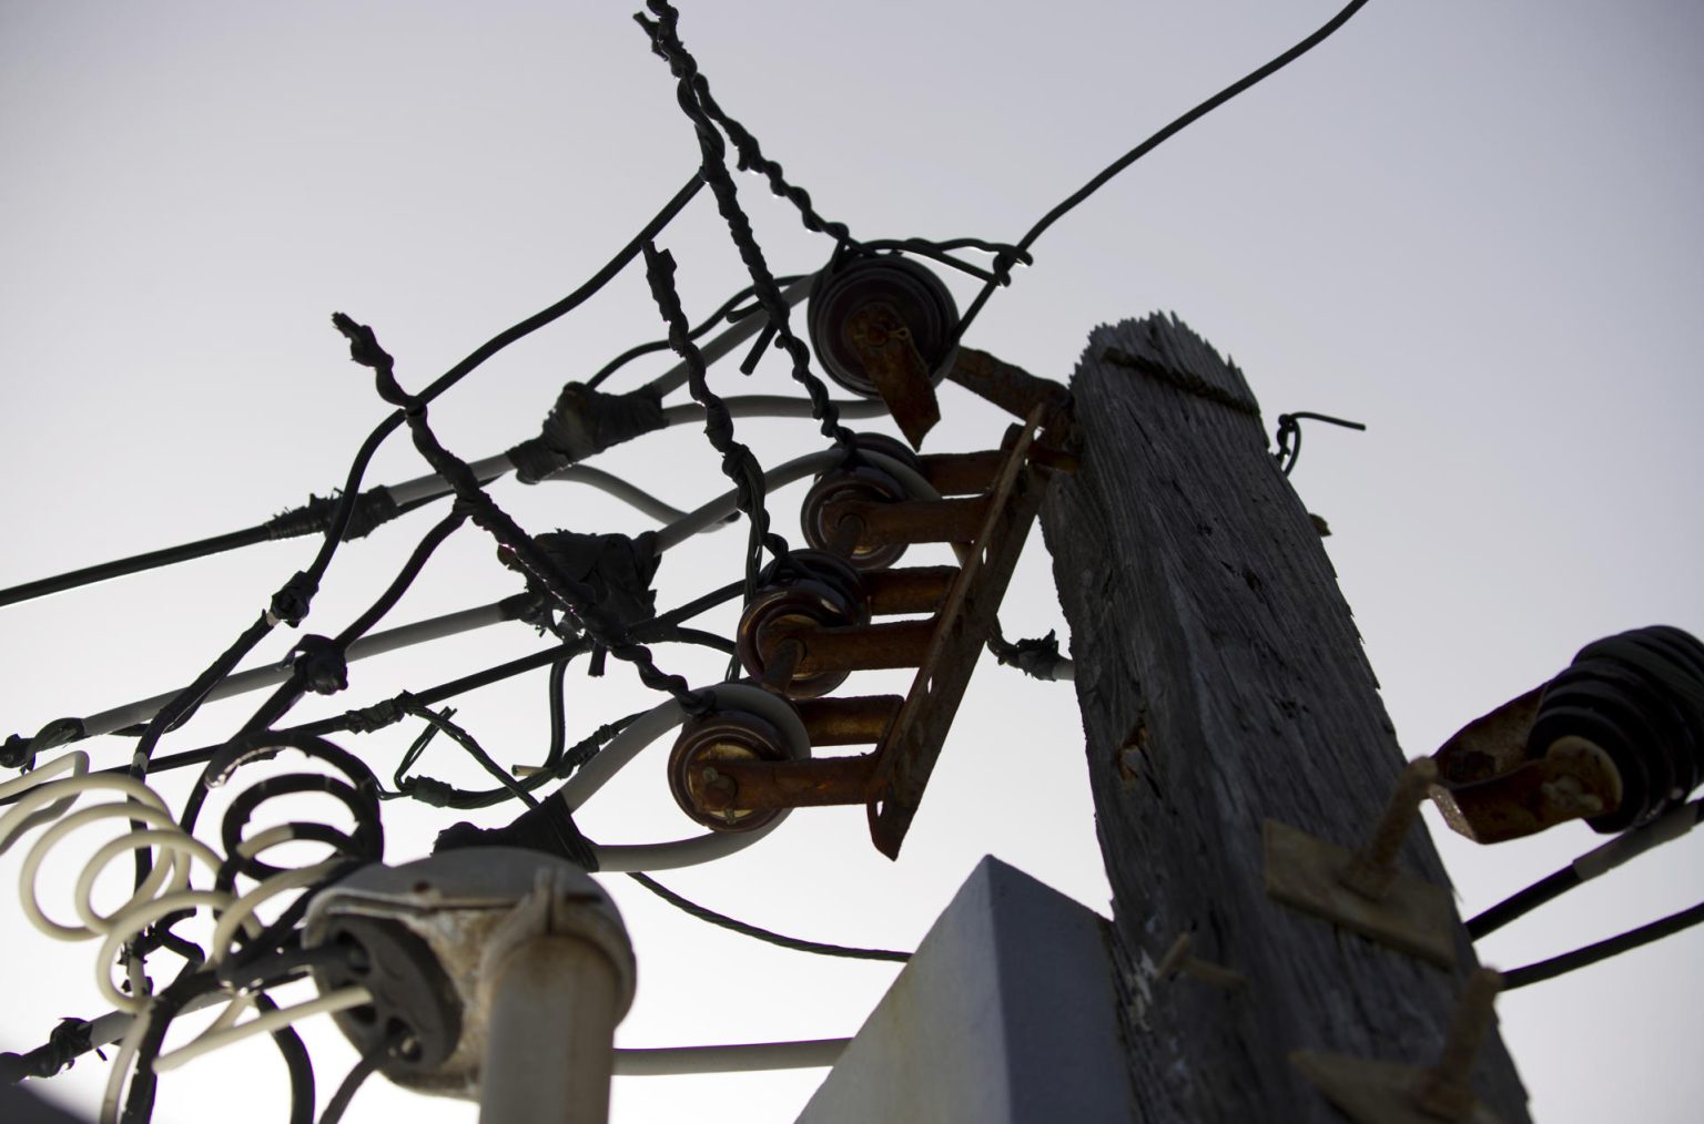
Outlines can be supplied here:
[[530, 850], [440, 852], [370, 865], [308, 909], [303, 943], [346, 945], [320, 991], [366, 988], [336, 1015], [406, 1088], [479, 1100], [484, 1124], [608, 1117], [615, 1025], [634, 998], [634, 954], [608, 894]]

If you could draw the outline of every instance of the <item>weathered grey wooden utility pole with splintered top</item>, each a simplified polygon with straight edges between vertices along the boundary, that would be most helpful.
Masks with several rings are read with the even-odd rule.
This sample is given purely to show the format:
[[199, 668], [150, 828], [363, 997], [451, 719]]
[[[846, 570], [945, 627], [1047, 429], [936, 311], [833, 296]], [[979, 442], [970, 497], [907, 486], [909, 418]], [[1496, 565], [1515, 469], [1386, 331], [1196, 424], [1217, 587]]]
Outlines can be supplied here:
[[[1082, 467], [1041, 518], [1072, 632], [1137, 1104], [1148, 1121], [1338, 1124], [1292, 1052], [1431, 1066], [1476, 961], [1452, 908], [1445, 971], [1273, 901], [1263, 824], [1356, 848], [1404, 754], [1242, 373], [1155, 315], [1096, 329], [1072, 392]], [[1397, 867], [1448, 884], [1418, 823]], [[1183, 935], [1200, 971], [1160, 972]], [[1528, 1119], [1494, 1029], [1472, 1087], [1505, 1122]]]

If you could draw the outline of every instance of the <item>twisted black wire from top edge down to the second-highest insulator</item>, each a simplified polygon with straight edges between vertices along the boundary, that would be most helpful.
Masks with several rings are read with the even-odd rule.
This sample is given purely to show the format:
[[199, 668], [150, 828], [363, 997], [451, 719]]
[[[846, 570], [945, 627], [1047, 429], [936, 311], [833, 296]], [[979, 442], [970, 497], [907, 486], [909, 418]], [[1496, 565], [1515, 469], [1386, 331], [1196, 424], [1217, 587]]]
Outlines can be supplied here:
[[792, 378], [809, 395], [811, 417], [820, 422], [821, 434], [832, 438], [842, 448], [852, 450], [852, 431], [840, 424], [840, 410], [830, 402], [828, 388], [820, 378], [811, 375], [811, 349], [792, 334], [787, 324], [787, 301], [780, 298], [780, 288], [775, 284], [775, 278], [769, 272], [769, 264], [763, 261], [763, 249], [757, 244], [751, 223], [740, 208], [738, 189], [728, 174], [728, 145], [722, 141], [722, 135], [716, 131], [716, 123], [700, 100], [700, 89], [709, 90], [709, 83], [699, 75], [697, 61], [675, 31], [680, 14], [666, 0], [651, 0], [649, 7], [656, 12], [656, 20], [649, 20], [644, 15], [636, 15], [634, 19], [649, 32], [651, 49], [668, 63], [670, 73], [676, 78], [676, 100], [692, 121], [699, 136], [699, 150], [704, 155], [700, 175], [711, 186], [711, 194], [716, 196], [716, 209], [728, 223], [728, 233], [740, 250], [740, 261], [745, 262], [746, 272], [751, 274], [757, 300], [769, 315], [769, 324], [775, 330], [777, 341], [792, 359]]

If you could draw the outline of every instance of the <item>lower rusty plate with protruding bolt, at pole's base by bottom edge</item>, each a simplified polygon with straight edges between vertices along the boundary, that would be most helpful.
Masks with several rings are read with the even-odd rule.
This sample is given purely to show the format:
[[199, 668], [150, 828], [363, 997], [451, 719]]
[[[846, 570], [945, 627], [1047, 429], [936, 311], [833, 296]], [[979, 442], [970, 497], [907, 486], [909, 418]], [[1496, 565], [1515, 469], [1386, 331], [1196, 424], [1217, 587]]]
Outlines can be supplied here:
[[1501, 986], [1503, 978], [1488, 967], [1469, 976], [1438, 1063], [1431, 1068], [1314, 1049], [1292, 1052], [1290, 1064], [1356, 1124], [1500, 1124], [1500, 1117], [1474, 1095], [1469, 1080], [1474, 1056], [1491, 1030]]

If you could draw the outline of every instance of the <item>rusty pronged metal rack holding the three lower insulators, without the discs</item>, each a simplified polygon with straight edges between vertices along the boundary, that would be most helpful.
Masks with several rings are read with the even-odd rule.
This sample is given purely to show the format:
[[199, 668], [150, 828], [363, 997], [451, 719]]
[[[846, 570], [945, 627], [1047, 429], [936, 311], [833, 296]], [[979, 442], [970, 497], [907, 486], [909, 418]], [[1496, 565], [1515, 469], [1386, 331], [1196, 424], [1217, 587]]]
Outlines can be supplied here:
[[[1072, 426], [1068, 412], [1036, 405], [1024, 426], [1010, 427], [999, 453], [922, 458], [934, 487], [951, 499], [828, 497], [821, 523], [847, 553], [929, 542], [953, 543], [959, 555], [958, 567], [861, 574], [869, 610], [861, 623], [832, 623], [782, 611], [782, 605], [751, 625], [746, 668], [791, 698], [811, 744], [874, 744], [874, 751], [809, 760], [695, 751], [670, 777], [682, 807], [714, 828], [786, 807], [866, 804], [876, 848], [896, 857], [983, 644], [995, 635], [995, 613], [1053, 468], [1068, 460], [1060, 446]], [[910, 613], [929, 616], [869, 620]], [[743, 620], [741, 637], [746, 627]], [[910, 693], [903, 700], [811, 698], [799, 686], [872, 668], [917, 668]]]

